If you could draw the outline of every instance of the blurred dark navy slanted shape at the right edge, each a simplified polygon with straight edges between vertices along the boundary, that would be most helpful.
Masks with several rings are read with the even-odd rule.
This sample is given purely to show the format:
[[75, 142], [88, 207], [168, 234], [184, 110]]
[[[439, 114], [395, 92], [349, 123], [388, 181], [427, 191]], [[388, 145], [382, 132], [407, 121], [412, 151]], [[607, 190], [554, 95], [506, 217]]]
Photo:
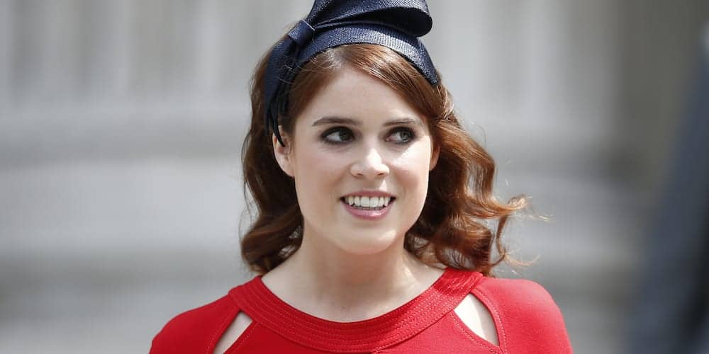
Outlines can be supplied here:
[[632, 353], [709, 353], [709, 21], [693, 92], [641, 249]]

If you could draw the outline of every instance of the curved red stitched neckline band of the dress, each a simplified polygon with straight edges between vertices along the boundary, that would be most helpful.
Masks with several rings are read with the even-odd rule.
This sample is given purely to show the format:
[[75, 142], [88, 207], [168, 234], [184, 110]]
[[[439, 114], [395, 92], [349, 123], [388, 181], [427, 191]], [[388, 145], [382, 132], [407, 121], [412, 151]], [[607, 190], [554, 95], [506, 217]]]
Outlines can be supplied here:
[[251, 319], [295, 343], [330, 352], [373, 351], [405, 341], [452, 311], [482, 274], [447, 268], [427, 290], [396, 309], [355, 322], [320, 319], [292, 307], [261, 276], [230, 291]]

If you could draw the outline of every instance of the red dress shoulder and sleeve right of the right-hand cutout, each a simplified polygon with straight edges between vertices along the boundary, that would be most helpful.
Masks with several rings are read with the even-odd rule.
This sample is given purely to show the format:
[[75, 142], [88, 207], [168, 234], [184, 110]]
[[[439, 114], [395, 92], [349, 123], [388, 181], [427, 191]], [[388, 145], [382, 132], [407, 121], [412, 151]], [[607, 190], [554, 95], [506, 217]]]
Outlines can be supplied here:
[[562, 312], [541, 285], [485, 278], [472, 292], [491, 312], [503, 353], [573, 353]]

